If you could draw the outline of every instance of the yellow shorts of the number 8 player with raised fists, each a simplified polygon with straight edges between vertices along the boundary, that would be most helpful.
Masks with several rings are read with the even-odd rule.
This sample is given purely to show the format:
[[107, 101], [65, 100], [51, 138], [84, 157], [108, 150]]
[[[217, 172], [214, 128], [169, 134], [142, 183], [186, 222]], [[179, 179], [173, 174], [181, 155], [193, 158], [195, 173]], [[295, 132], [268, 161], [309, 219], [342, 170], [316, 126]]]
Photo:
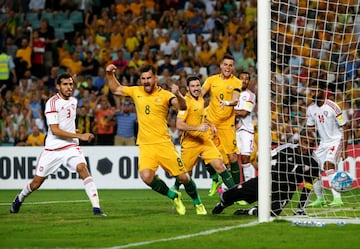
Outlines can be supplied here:
[[139, 145], [139, 171], [151, 169], [156, 172], [159, 166], [171, 176], [178, 176], [187, 172], [175, 145], [171, 141]]

